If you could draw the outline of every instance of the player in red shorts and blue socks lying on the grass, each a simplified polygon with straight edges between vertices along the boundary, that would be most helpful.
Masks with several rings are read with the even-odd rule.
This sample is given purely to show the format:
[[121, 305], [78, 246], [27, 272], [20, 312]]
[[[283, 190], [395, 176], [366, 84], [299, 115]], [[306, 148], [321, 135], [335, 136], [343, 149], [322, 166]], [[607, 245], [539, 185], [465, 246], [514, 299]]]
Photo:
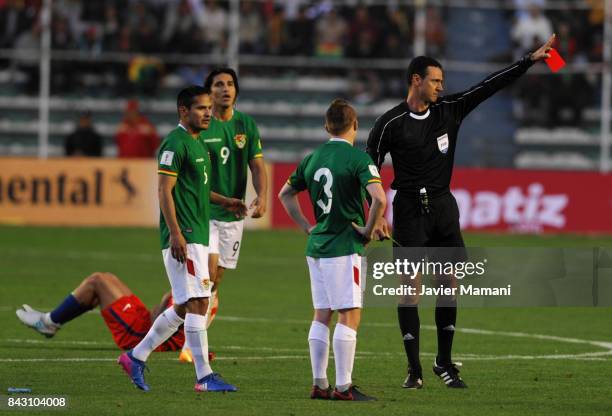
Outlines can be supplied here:
[[[133, 348], [145, 336], [151, 323], [173, 304], [166, 293], [159, 305], [149, 311], [130, 288], [112, 273], [92, 273], [51, 312], [40, 312], [29, 305], [17, 310], [17, 317], [38, 333], [51, 338], [62, 325], [87, 311], [100, 307], [100, 313], [115, 344], [122, 350]], [[176, 351], [185, 342], [179, 329], [155, 351]]]

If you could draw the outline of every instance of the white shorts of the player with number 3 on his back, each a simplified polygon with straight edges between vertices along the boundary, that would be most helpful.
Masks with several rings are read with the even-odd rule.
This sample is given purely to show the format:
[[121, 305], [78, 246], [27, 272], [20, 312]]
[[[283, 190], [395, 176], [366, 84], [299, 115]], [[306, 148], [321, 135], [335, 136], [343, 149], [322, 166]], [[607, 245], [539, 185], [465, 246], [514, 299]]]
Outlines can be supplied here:
[[306, 257], [310, 271], [310, 290], [315, 309], [361, 308], [365, 279], [361, 256]]

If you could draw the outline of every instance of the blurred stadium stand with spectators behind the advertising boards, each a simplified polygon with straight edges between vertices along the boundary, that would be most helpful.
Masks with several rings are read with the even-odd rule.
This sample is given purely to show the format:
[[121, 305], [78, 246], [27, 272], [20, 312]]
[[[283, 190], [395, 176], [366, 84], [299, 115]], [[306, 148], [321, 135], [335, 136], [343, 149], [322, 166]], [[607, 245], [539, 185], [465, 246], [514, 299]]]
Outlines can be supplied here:
[[[115, 156], [113, 137], [125, 103], [132, 98], [140, 101], [159, 134], [167, 133], [176, 123], [175, 91], [201, 82], [215, 66], [213, 62], [196, 64], [195, 54], [224, 60], [227, 1], [124, 3], [54, 2], [55, 55], [76, 55], [75, 60], [52, 61], [50, 156], [63, 155], [63, 140], [84, 110], [92, 112], [95, 127], [104, 137], [104, 156]], [[512, 35], [518, 21], [529, 15], [521, 9], [525, 2], [517, 1], [517, 10], [431, 3], [425, 15], [429, 22], [426, 52], [445, 65], [451, 63], [447, 92], [469, 87], [522, 52]], [[0, 155], [37, 154], [37, 64], [23, 48], [36, 51], [39, 47], [39, 4], [0, 2], [0, 21], [7, 22], [0, 34], [4, 48], [0, 55]], [[296, 160], [323, 140], [322, 115], [335, 97], [356, 103], [360, 143], [374, 118], [402, 99], [404, 68], [414, 53], [415, 12], [412, 4], [394, 4], [342, 5], [331, 12], [329, 1], [240, 2], [239, 107], [257, 118], [271, 160]], [[599, 4], [575, 4], [577, 10], [542, 13], [559, 33], [557, 47], [568, 63], [600, 62]], [[211, 16], [219, 22], [215, 31], [207, 29]], [[340, 45], [323, 45], [324, 39], [317, 36], [317, 27], [329, 19], [345, 27], [337, 34]], [[356, 28], [366, 28], [361, 31], [366, 34]], [[177, 53], [189, 53], [190, 59], [182, 63]], [[393, 59], [390, 65], [379, 61], [387, 58]], [[369, 63], [374, 65], [368, 67]], [[556, 77], [530, 74], [512, 93], [493, 97], [464, 124], [457, 164], [597, 168], [601, 80], [585, 75], [586, 70], [586, 66], [584, 71], [578, 67]], [[580, 105], [568, 104], [568, 97]], [[559, 111], [551, 109], [553, 102]]]

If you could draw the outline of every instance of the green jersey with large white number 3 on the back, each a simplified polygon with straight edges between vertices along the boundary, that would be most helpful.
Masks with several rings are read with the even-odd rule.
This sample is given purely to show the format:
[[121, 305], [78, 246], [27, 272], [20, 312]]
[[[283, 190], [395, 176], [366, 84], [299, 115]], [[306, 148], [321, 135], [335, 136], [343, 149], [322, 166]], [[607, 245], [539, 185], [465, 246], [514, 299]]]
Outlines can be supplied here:
[[308, 237], [306, 255], [340, 257], [363, 254], [363, 239], [351, 222], [365, 225], [365, 187], [381, 183], [370, 156], [342, 139], [331, 139], [306, 156], [287, 181], [308, 189], [317, 225]]

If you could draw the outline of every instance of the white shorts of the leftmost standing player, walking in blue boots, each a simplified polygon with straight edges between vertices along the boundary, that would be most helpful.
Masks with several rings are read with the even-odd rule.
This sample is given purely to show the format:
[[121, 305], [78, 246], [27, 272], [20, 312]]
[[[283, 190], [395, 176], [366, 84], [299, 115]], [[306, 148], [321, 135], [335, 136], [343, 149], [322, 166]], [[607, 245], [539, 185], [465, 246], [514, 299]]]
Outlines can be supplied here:
[[208, 275], [208, 247], [202, 244], [187, 244], [187, 260], [179, 263], [169, 248], [162, 250], [164, 266], [174, 303], [182, 305], [191, 298], [209, 298], [210, 276]]

